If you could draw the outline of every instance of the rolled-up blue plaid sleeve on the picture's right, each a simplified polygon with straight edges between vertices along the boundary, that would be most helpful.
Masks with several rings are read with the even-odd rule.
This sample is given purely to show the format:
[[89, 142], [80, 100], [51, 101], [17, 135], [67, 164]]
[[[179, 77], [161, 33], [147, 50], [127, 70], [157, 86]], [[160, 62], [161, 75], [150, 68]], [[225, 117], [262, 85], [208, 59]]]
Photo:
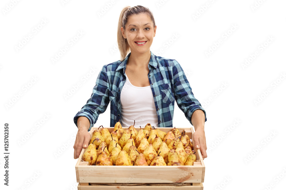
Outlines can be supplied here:
[[190, 124], [192, 124], [191, 122], [192, 114], [197, 109], [200, 109], [204, 112], [206, 121], [206, 111], [202, 108], [199, 101], [194, 97], [188, 79], [186, 78], [186, 75], [182, 67], [176, 60], [174, 60], [173, 80], [174, 80], [174, 89], [175, 89], [174, 93], [176, 102], [178, 104], [178, 107], [184, 112]]

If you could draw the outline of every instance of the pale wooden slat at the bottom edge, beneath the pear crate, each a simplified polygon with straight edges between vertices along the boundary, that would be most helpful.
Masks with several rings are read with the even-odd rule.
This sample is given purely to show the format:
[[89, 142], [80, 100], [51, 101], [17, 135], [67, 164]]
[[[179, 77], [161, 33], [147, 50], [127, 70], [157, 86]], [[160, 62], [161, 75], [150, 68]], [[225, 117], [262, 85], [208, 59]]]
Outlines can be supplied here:
[[156, 190], [166, 190], [166, 189], [191, 189], [191, 190], [203, 190], [204, 186], [202, 183], [196, 183], [194, 185], [186, 185], [186, 186], [168, 186], [168, 185], [162, 185], [162, 186], [111, 186], [111, 185], [78, 185], [78, 190], [118, 190], [118, 189], [124, 189], [124, 190], [144, 190], [144, 189], [156, 189]]

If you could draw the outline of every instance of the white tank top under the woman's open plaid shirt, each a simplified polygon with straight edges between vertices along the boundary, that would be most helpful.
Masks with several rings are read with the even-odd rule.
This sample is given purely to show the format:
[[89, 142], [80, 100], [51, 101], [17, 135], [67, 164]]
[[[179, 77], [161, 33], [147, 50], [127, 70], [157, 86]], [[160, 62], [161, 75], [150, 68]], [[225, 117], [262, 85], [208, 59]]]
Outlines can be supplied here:
[[121, 120], [123, 127], [129, 127], [134, 124], [135, 127], [145, 127], [147, 123], [158, 127], [158, 115], [153, 99], [151, 86], [137, 87], [133, 86], [126, 73], [126, 82], [121, 90]]

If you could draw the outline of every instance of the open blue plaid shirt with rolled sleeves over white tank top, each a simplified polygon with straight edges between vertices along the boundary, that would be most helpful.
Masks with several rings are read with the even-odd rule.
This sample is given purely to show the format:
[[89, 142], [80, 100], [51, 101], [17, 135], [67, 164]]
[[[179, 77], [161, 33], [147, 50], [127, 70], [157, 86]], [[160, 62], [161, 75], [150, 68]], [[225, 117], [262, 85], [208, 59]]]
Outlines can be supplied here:
[[[130, 54], [122, 62], [118, 60], [102, 67], [90, 99], [74, 117], [76, 125], [78, 117], [85, 116], [91, 128], [110, 102], [110, 127], [114, 127], [121, 117], [120, 91], [126, 81], [125, 69]], [[194, 97], [186, 75], [176, 60], [155, 56], [151, 52], [148, 68], [158, 127], [173, 127], [174, 100], [191, 124], [192, 113], [197, 109], [204, 111], [206, 121], [206, 112]]]

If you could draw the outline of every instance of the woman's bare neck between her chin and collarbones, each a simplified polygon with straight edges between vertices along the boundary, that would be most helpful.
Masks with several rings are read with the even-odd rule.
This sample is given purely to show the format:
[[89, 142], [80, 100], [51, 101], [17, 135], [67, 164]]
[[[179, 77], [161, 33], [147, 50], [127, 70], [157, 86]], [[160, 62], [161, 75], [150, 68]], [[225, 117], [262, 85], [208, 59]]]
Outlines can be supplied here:
[[149, 62], [150, 62], [150, 56], [151, 56], [151, 52], [150, 50], [140, 54], [137, 52], [131, 52], [128, 60], [127, 60], [127, 64], [132, 65], [132, 66], [140, 66], [140, 67], [146, 67], [148, 66]]

